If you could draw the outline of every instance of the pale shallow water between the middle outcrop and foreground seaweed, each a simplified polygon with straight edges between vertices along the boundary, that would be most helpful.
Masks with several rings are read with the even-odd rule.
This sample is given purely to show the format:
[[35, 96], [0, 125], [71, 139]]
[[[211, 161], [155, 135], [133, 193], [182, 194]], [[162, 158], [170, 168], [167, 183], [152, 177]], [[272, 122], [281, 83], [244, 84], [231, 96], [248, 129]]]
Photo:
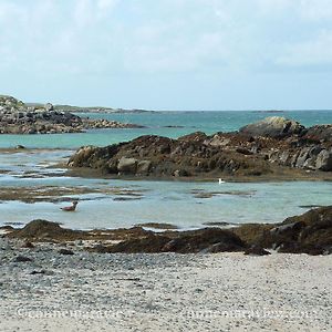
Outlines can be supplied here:
[[[278, 222], [301, 214], [305, 205], [330, 205], [332, 183], [184, 183], [83, 179], [50, 177], [8, 178], [6, 186], [86, 186], [101, 189], [133, 190], [142, 197], [118, 194], [72, 195], [82, 201], [75, 212], [63, 212], [66, 203], [7, 201], [0, 205], [1, 221], [28, 222], [42, 218], [63, 222], [70, 228], [117, 228], [141, 222], [167, 222], [180, 228], [196, 228], [205, 222]], [[215, 193], [199, 198], [197, 193]], [[116, 200], [116, 199], [128, 200]], [[133, 198], [135, 198], [133, 200]], [[115, 199], [115, 200], [114, 200]]]

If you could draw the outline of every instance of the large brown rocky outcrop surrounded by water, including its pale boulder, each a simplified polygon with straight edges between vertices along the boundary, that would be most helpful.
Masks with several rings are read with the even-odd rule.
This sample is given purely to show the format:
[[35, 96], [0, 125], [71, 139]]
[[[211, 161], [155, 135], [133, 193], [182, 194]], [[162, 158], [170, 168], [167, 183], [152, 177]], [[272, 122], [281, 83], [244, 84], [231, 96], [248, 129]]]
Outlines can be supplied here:
[[332, 125], [305, 128], [272, 116], [234, 133], [178, 139], [146, 135], [106, 147], [84, 146], [72, 169], [152, 178], [332, 178]]

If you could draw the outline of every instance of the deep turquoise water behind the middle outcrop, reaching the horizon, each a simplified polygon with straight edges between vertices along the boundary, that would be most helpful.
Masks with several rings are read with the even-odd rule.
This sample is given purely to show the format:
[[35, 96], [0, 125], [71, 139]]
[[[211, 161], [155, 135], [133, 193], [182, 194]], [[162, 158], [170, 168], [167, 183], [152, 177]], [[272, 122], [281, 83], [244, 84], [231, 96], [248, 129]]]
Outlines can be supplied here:
[[[82, 115], [82, 114], [81, 114]], [[83, 134], [60, 135], [0, 135], [0, 147], [24, 145], [31, 148], [77, 148], [82, 145], [104, 146], [125, 142], [141, 135], [154, 134], [178, 137], [201, 131], [207, 134], [237, 131], [241, 126], [267, 116], [286, 116], [305, 126], [331, 124], [332, 111], [289, 111], [284, 113], [261, 112], [157, 112], [139, 114], [89, 114], [93, 118], [107, 118], [135, 123], [147, 128], [98, 129]], [[183, 127], [164, 127], [183, 126]]]

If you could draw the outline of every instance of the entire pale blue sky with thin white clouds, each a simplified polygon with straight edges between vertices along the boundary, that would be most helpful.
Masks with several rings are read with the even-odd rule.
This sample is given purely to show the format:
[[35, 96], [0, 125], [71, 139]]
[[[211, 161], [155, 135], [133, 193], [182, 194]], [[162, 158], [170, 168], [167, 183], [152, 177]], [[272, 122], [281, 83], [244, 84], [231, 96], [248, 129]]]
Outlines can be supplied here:
[[331, 110], [332, 0], [0, 0], [0, 94]]

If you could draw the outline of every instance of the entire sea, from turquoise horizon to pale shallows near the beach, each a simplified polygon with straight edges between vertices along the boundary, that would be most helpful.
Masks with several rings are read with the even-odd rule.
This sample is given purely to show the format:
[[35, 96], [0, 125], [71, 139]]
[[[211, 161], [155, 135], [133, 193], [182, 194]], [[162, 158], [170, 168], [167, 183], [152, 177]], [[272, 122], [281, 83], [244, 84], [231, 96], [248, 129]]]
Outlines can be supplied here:
[[[0, 226], [23, 226], [33, 219], [73, 229], [113, 229], [157, 222], [179, 229], [210, 225], [280, 222], [311, 206], [332, 205], [331, 181], [224, 183], [123, 180], [69, 177], [65, 163], [81, 146], [105, 146], [141, 135], [179, 137], [193, 132], [234, 132], [267, 116], [284, 116], [305, 126], [332, 124], [332, 111], [222, 111], [89, 113], [81, 116], [144, 125], [144, 128], [93, 129], [80, 134], [0, 135]], [[23, 145], [27, 151], [12, 152]], [[30, 203], [8, 193], [61, 189], [51, 201]], [[73, 194], [81, 189], [84, 194]], [[65, 194], [69, 190], [69, 194]], [[204, 194], [204, 195], [200, 195]], [[37, 194], [38, 195], [38, 194]], [[14, 196], [14, 195], [13, 195]], [[54, 198], [54, 197], [53, 197]], [[79, 199], [75, 212], [63, 212], [64, 200]]]

